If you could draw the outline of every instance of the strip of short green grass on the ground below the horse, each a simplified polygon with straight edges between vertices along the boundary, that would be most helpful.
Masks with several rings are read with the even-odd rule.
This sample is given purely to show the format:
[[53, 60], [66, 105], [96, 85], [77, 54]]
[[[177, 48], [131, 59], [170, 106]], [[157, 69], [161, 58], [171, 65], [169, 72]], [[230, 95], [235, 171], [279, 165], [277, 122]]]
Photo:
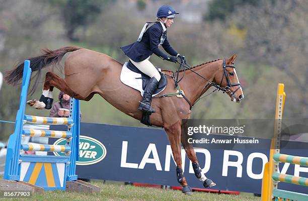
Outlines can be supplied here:
[[[132, 185], [119, 185], [119, 183], [107, 182], [103, 184], [101, 181], [91, 182], [101, 187], [100, 193], [85, 194], [85, 193], [69, 193], [63, 191], [47, 191], [44, 194], [34, 194], [31, 198], [23, 200], [260, 200], [260, 197], [254, 197], [251, 193], [241, 193], [240, 195], [217, 194], [207, 192], [193, 192], [193, 195], [188, 196], [180, 190], [159, 189], [149, 187], [136, 187]], [[20, 198], [0, 198], [0, 200], [21, 200]]]

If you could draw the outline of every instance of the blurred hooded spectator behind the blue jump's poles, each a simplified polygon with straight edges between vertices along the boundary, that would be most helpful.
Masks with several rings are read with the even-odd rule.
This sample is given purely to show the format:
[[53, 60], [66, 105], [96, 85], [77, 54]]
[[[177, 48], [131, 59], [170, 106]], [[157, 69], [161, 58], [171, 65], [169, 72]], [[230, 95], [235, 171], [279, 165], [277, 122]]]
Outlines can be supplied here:
[[[69, 116], [70, 96], [60, 91], [59, 101], [56, 102], [50, 112], [50, 117], [68, 117]], [[81, 116], [81, 114], [80, 114]]]

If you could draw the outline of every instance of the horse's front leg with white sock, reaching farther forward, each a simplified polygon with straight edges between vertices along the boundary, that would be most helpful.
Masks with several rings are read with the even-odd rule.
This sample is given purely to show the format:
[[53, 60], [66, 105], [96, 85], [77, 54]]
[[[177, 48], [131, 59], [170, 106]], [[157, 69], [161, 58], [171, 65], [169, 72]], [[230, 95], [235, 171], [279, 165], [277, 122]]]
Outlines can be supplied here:
[[200, 181], [203, 181], [203, 186], [206, 188], [216, 185], [216, 183], [214, 183], [211, 179], [206, 178], [204, 172], [202, 172], [202, 169], [200, 168], [199, 163], [198, 163], [195, 150], [192, 144], [188, 143], [188, 135], [185, 132], [185, 126], [187, 126], [187, 122], [186, 123], [184, 122], [184, 124], [181, 127], [181, 142], [186, 151], [187, 157], [192, 162], [192, 166], [193, 166], [196, 177]]

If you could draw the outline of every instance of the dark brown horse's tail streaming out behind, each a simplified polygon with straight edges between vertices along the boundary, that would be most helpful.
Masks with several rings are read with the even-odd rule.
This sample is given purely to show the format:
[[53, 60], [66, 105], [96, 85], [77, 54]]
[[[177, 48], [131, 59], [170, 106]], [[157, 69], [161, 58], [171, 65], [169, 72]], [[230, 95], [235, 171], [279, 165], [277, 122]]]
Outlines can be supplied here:
[[[32, 78], [36, 77], [36, 80], [30, 90], [30, 93], [33, 94], [33, 92], [37, 88], [37, 84], [40, 79], [42, 68], [45, 68], [51, 65], [54, 66], [55, 64], [58, 64], [61, 61], [65, 53], [73, 52], [79, 49], [82, 49], [82, 48], [81, 47], [62, 47], [57, 50], [42, 49], [42, 52], [43, 52], [42, 55], [37, 56], [37, 57], [28, 58], [28, 60], [30, 60], [30, 68], [32, 69], [32, 72], [37, 71], [37, 73], [34, 76], [32, 76]], [[6, 72], [5, 80], [8, 82], [8, 84], [13, 84], [15, 86], [22, 79], [23, 71], [24, 71], [24, 62], [21, 62], [17, 64], [17, 66], [13, 70]]]

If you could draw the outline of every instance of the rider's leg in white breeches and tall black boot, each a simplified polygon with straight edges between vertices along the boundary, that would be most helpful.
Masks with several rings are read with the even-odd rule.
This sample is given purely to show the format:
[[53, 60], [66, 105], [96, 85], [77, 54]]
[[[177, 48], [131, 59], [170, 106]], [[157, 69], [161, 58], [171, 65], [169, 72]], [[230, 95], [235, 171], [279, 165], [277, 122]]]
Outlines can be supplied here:
[[[147, 74], [149, 77], [151, 77], [150, 81], [147, 83], [143, 98], [140, 101], [139, 110], [145, 110], [150, 111], [150, 102], [153, 92], [155, 91], [158, 82], [161, 79], [161, 74], [158, 72], [156, 67], [147, 59], [140, 61], [140, 62], [134, 62], [130, 60], [141, 72], [144, 74]], [[155, 110], [151, 110], [151, 113], [155, 113]]]

